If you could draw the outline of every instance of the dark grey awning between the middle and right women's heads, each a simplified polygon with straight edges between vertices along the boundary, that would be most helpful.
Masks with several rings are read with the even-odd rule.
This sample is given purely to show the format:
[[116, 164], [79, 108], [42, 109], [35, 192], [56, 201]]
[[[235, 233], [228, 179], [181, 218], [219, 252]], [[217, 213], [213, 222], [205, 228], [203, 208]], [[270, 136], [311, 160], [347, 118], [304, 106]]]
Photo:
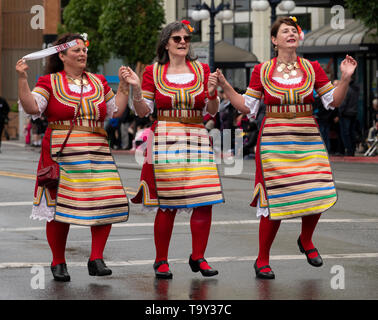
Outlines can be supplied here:
[[[208, 42], [193, 42], [192, 49], [198, 56], [199, 61], [209, 63]], [[214, 63], [218, 67], [253, 67], [259, 63], [257, 57], [252, 52], [235, 47], [223, 40], [215, 43], [214, 52]]]

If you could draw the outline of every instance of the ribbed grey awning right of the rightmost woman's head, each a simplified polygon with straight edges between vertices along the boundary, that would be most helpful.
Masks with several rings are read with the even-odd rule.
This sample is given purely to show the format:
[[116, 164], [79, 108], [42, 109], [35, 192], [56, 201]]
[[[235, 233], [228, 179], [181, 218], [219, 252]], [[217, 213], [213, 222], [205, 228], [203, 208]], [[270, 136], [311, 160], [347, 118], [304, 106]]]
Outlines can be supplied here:
[[330, 24], [306, 33], [299, 53], [328, 53], [328, 52], [362, 52], [378, 45], [362, 22], [354, 19], [345, 20], [344, 29], [334, 29]]

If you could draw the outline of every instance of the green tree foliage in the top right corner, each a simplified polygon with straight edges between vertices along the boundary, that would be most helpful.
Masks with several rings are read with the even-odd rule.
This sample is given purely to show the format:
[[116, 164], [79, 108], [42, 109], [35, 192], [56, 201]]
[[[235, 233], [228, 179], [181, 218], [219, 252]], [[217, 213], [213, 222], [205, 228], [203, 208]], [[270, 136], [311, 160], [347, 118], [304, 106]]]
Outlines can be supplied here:
[[345, 0], [351, 13], [378, 36], [378, 1]]

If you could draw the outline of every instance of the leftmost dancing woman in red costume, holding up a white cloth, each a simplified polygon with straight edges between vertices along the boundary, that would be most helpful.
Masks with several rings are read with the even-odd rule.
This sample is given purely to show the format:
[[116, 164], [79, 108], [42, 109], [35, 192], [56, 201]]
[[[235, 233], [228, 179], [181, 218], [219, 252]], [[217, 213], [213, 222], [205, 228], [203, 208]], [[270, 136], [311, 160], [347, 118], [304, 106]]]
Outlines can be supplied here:
[[[79, 34], [62, 36], [56, 45], [67, 48], [49, 57], [46, 75], [33, 91], [23, 59], [16, 65], [20, 104], [37, 119], [44, 114], [49, 122], [42, 141], [41, 166], [59, 164], [57, 187], [38, 185], [34, 191], [31, 218], [46, 220], [46, 235], [53, 261], [51, 271], [57, 281], [70, 281], [65, 248], [70, 224], [91, 227], [92, 248], [88, 272], [110, 275], [103, 251], [112, 223], [128, 219], [128, 200], [122, 186], [104, 130], [105, 118], [119, 117], [126, 108], [128, 92], [119, 71], [120, 88], [115, 95], [102, 75], [86, 72], [87, 42]], [[72, 132], [62, 154], [57, 157]]]

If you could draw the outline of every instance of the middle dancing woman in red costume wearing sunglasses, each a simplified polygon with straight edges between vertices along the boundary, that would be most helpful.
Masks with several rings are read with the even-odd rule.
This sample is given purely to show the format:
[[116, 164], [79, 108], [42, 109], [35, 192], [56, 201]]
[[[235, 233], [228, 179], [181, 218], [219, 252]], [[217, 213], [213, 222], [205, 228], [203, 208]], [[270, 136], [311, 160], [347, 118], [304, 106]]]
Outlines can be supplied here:
[[157, 107], [143, 165], [140, 187], [131, 200], [153, 208], [157, 278], [172, 278], [168, 247], [177, 212], [191, 213], [193, 272], [214, 276], [204, 259], [210, 233], [212, 205], [224, 202], [212, 147], [203, 115], [218, 112], [217, 79], [209, 66], [196, 61], [190, 50], [192, 27], [188, 21], [168, 24], [161, 32], [157, 62], [147, 66], [143, 82], [128, 69], [133, 104], [144, 117]]

